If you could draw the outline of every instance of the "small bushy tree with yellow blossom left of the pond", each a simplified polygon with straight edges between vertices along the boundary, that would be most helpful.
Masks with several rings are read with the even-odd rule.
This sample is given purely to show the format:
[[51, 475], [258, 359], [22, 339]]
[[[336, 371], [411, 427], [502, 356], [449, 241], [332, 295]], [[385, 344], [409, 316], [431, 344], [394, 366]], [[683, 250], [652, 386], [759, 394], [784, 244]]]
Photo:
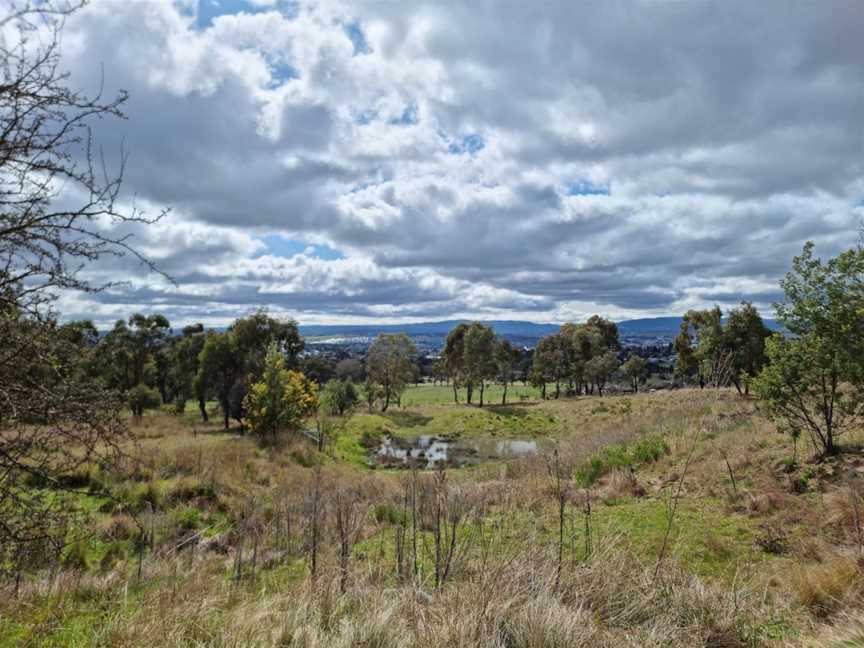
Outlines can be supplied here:
[[277, 344], [264, 356], [261, 380], [249, 385], [244, 422], [252, 434], [275, 441], [280, 432], [299, 430], [318, 403], [318, 388], [299, 371], [286, 368]]

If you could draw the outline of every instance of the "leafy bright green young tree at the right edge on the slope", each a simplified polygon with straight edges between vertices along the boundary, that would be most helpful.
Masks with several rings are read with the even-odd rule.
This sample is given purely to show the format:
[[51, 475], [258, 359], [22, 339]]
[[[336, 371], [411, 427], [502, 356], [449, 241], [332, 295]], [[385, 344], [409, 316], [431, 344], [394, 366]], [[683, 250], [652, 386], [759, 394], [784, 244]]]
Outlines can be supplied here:
[[808, 242], [780, 286], [777, 319], [791, 337], [768, 339], [754, 388], [771, 419], [792, 435], [806, 431], [824, 457], [864, 408], [864, 250], [822, 262]]

